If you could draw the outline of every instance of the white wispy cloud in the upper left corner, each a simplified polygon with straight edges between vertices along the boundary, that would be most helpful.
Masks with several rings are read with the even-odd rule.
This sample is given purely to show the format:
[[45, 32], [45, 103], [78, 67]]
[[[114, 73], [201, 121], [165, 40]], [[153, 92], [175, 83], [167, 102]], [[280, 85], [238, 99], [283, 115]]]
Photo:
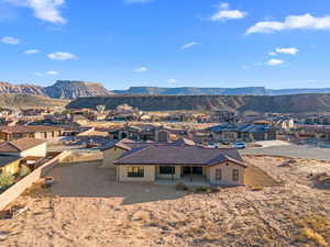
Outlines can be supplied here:
[[6, 0], [15, 7], [30, 8], [34, 16], [55, 24], [65, 24], [66, 20], [62, 16], [59, 8], [65, 0]]

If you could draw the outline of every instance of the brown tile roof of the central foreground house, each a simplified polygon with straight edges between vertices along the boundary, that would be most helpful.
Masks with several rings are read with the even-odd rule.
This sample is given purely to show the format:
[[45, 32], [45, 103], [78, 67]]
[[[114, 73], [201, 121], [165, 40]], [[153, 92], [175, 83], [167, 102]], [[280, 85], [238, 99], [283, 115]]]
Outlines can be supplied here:
[[124, 153], [116, 165], [197, 165], [213, 166], [233, 161], [243, 167], [240, 153], [234, 148], [205, 148], [200, 146], [148, 145]]

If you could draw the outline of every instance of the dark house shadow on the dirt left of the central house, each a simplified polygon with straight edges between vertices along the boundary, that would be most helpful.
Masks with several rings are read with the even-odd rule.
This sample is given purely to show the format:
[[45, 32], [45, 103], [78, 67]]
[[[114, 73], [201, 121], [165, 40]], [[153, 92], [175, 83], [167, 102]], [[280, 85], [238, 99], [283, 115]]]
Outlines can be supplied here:
[[101, 168], [100, 161], [61, 165], [48, 176], [54, 177], [53, 195], [85, 198], [121, 198], [122, 204], [175, 200], [187, 194], [174, 186], [150, 183], [120, 183], [116, 171]]

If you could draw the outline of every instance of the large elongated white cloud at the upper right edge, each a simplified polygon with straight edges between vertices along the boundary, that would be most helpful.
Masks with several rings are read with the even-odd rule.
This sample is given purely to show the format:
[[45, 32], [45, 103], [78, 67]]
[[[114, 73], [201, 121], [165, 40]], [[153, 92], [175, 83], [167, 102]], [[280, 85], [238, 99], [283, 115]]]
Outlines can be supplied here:
[[302, 15], [289, 15], [284, 22], [257, 22], [248, 29], [246, 34], [275, 33], [284, 30], [330, 30], [330, 15], [315, 18], [307, 13]]

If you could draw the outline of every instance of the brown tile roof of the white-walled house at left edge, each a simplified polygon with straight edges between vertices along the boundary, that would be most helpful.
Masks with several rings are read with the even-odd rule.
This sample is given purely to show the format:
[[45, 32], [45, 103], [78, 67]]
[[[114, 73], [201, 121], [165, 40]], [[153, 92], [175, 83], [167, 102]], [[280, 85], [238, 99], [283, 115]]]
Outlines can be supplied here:
[[20, 153], [32, 147], [38, 146], [43, 143], [45, 143], [45, 141], [29, 137], [11, 142], [3, 142], [0, 144], [0, 153]]

